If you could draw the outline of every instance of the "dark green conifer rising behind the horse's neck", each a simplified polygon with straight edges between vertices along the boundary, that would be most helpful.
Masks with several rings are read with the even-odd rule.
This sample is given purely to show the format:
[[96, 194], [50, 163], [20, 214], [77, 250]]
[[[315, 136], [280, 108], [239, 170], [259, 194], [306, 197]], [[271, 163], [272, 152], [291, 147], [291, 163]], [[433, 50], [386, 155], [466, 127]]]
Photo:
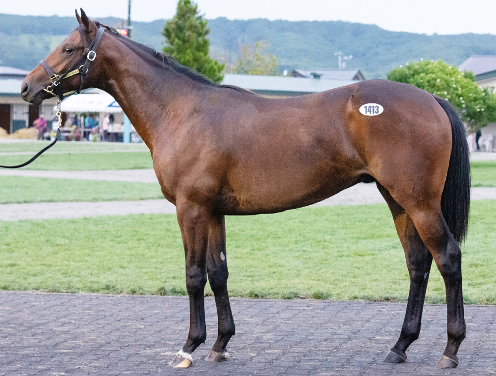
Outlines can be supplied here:
[[162, 51], [212, 81], [221, 82], [224, 64], [219, 64], [208, 55], [208, 33], [207, 20], [199, 14], [198, 5], [191, 0], [179, 0], [176, 15], [166, 22], [162, 31], [168, 44]]

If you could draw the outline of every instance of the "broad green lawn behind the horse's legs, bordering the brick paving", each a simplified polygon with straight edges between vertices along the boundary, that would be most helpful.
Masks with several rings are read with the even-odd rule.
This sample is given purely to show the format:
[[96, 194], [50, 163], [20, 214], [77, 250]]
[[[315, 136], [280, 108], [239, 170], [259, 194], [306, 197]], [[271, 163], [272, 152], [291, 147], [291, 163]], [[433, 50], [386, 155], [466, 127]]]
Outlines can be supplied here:
[[[472, 205], [466, 303], [496, 304], [496, 201]], [[227, 217], [231, 296], [406, 301], [409, 279], [383, 204]], [[186, 294], [175, 215], [0, 222], [0, 288]], [[207, 294], [211, 294], [209, 288]], [[444, 301], [435, 266], [427, 301]]]

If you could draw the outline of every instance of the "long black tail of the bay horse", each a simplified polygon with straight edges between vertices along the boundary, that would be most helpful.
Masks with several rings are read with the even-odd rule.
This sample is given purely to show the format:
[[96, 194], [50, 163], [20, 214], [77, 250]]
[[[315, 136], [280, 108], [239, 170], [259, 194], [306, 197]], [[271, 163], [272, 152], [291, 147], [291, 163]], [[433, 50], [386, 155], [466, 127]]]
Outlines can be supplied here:
[[467, 235], [470, 212], [470, 160], [465, 128], [455, 108], [434, 96], [451, 123], [451, 158], [441, 196], [441, 211], [455, 240], [460, 243]]

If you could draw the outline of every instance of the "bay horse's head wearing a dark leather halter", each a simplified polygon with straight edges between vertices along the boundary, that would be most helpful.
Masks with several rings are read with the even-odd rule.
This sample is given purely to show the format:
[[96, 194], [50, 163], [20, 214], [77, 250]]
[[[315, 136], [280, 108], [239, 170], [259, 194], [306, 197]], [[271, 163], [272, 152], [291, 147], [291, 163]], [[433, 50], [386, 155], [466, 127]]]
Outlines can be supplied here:
[[98, 47], [103, 29], [99, 32], [83, 9], [81, 16], [76, 10], [76, 18], [79, 26], [22, 81], [21, 97], [26, 102], [39, 105], [47, 98], [62, 99], [63, 94], [88, 87], [94, 68], [88, 67], [96, 56], [93, 51]]

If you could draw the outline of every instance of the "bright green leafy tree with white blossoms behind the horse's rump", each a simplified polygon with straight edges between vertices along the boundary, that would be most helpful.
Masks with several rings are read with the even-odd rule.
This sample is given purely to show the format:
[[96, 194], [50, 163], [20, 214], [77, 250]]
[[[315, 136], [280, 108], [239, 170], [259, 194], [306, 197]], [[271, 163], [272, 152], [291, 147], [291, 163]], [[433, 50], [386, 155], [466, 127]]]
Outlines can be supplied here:
[[493, 88], [479, 88], [471, 72], [437, 61], [416, 61], [391, 70], [387, 79], [411, 84], [448, 100], [472, 132], [496, 121]]

